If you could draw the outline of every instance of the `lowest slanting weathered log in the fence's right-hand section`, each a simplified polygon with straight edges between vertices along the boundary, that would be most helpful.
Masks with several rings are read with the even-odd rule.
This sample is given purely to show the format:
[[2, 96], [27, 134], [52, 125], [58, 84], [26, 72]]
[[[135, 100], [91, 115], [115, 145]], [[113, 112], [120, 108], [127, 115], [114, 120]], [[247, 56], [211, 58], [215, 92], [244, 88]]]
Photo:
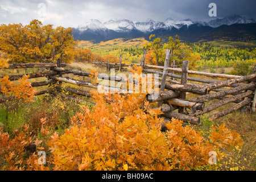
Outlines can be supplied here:
[[242, 102], [234, 105], [233, 107], [231, 107], [230, 109], [226, 109], [226, 110], [222, 110], [214, 115], [211, 115], [209, 117], [210, 120], [213, 120], [213, 119], [217, 119], [217, 118], [220, 118], [220, 117], [223, 117], [224, 115], [227, 115], [227, 114], [230, 114], [230, 113], [233, 113], [234, 111], [240, 109], [242, 106], [245, 106], [247, 104], [249, 104], [250, 102], [252, 101], [251, 98], [246, 98], [245, 100], [243, 100]]

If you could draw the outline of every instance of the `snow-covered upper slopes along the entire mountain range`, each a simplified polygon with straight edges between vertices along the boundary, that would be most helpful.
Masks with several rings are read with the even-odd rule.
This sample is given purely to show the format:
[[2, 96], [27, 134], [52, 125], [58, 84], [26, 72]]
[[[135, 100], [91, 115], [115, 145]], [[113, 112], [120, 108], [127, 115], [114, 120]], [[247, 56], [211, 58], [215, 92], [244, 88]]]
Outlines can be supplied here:
[[171, 30], [173, 27], [178, 30], [183, 27], [191, 26], [192, 24], [200, 23], [203, 26], [210, 26], [213, 28], [219, 27], [223, 24], [231, 25], [234, 23], [256, 23], [254, 19], [246, 19], [240, 15], [227, 16], [225, 18], [217, 18], [206, 22], [192, 22], [191, 19], [184, 20], [173, 20], [172, 18], [167, 18], [164, 22], [155, 22], [152, 19], [147, 19], [144, 22], [132, 22], [128, 19], [110, 19], [105, 23], [101, 23], [99, 20], [91, 19], [89, 22], [86, 22], [80, 25], [77, 29], [80, 32], [83, 32], [87, 29], [92, 31], [106, 31], [113, 30], [115, 32], [130, 32], [131, 30], [139, 30], [144, 33], [152, 32], [160, 28]]

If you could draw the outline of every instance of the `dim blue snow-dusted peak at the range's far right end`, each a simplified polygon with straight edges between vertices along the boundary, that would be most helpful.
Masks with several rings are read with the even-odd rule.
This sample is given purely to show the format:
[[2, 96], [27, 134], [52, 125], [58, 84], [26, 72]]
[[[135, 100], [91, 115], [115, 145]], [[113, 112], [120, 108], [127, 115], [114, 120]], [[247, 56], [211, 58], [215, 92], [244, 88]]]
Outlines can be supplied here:
[[217, 18], [214, 20], [210, 20], [207, 25], [213, 28], [220, 27], [223, 24], [231, 25], [234, 23], [256, 23], [254, 19], [246, 19], [245, 17], [242, 17], [240, 15], [232, 15], [227, 16], [225, 18]]

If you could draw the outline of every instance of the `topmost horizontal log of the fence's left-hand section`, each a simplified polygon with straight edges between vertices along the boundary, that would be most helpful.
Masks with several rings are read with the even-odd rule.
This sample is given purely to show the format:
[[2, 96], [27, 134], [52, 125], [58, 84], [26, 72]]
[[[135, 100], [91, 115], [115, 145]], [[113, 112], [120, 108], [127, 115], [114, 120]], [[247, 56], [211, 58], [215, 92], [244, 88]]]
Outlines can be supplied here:
[[[60, 64], [61, 67], [65, 67], [65, 63]], [[9, 67], [7, 69], [13, 69], [13, 68], [51, 68], [51, 67], [57, 67], [56, 63], [15, 63], [15, 64], [9, 64]]]

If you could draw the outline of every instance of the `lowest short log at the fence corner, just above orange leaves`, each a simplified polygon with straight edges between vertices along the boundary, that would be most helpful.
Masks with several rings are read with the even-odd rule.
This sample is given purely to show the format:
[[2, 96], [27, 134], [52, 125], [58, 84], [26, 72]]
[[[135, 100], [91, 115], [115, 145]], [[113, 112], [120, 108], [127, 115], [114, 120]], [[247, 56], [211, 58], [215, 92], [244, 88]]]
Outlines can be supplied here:
[[200, 124], [200, 118], [192, 117], [190, 115], [182, 114], [182, 113], [176, 113], [176, 112], [168, 112], [163, 114], [166, 118], [177, 118], [182, 120], [183, 122], [191, 123], [193, 125], [199, 125]]

